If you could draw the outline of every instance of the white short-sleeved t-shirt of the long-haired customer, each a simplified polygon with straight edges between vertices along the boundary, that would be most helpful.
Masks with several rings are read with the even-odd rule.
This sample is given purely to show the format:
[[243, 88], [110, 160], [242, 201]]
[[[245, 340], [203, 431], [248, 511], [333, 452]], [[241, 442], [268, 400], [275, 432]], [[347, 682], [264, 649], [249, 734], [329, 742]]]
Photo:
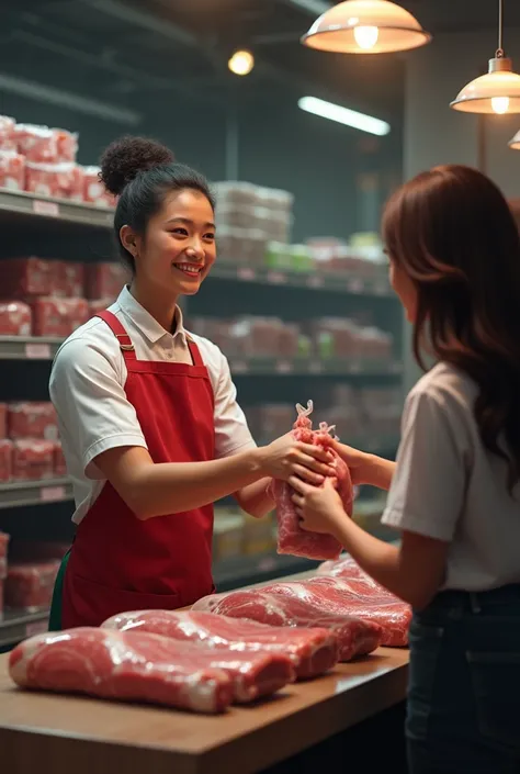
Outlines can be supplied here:
[[450, 542], [444, 588], [520, 583], [520, 485], [482, 444], [475, 382], [439, 363], [411, 390], [383, 524]]

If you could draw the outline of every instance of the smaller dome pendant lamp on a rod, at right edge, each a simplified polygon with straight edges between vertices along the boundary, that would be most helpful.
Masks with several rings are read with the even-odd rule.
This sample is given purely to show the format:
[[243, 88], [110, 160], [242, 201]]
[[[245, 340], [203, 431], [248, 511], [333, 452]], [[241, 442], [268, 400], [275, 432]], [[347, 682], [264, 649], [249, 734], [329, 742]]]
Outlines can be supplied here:
[[520, 76], [512, 71], [512, 61], [502, 48], [504, 0], [498, 0], [498, 49], [489, 59], [489, 72], [475, 78], [451, 103], [464, 113], [520, 113]]

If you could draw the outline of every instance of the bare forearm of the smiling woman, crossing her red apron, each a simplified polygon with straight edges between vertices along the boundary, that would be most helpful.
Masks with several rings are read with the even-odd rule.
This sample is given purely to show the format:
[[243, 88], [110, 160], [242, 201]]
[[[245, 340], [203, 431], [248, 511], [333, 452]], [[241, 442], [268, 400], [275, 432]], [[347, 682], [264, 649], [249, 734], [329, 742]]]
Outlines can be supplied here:
[[126, 500], [140, 519], [202, 507], [262, 478], [260, 455], [251, 449], [208, 462], [142, 465], [133, 473]]

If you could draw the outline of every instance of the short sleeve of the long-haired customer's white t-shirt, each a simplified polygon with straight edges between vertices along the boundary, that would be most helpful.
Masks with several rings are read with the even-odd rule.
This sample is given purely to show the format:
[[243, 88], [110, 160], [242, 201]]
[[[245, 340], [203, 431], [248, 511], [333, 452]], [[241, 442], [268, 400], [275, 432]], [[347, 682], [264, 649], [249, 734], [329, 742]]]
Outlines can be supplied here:
[[467, 478], [461, 411], [446, 395], [410, 393], [383, 524], [451, 542]]

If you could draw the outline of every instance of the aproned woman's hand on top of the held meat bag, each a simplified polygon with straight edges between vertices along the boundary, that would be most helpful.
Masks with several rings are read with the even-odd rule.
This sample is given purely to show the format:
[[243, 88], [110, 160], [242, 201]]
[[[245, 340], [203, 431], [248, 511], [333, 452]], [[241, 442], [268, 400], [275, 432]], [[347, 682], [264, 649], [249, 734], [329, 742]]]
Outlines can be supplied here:
[[327, 451], [295, 441], [291, 433], [269, 444], [261, 452], [263, 472], [272, 479], [287, 481], [291, 475], [296, 475], [319, 486], [326, 476], [335, 475]]

